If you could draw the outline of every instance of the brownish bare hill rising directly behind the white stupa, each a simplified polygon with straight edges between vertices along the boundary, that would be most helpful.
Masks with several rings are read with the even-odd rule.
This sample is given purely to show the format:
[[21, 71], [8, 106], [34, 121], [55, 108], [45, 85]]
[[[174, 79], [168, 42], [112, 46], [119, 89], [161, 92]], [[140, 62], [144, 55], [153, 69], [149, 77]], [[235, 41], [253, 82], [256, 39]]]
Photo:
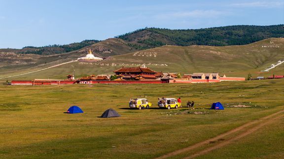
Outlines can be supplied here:
[[129, 47], [124, 40], [114, 38], [106, 39], [73, 52], [52, 55], [22, 54], [14, 49], [0, 49], [0, 70], [4, 73], [3, 70], [15, 71], [36, 66], [48, 67], [83, 57], [89, 49], [98, 57], [108, 57], [137, 51]]

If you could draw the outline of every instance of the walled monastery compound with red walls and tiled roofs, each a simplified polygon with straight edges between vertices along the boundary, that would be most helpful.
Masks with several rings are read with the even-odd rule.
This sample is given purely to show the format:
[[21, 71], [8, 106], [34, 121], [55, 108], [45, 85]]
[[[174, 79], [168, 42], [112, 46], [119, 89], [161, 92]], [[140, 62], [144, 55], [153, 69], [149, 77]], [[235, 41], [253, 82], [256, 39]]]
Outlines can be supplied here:
[[218, 73], [193, 73], [181, 76], [179, 73], [163, 73], [151, 70], [148, 67], [122, 67], [113, 71], [115, 75], [90, 75], [74, 78], [68, 75], [68, 79], [35, 79], [12, 80], [12, 85], [48, 85], [48, 84], [75, 84], [75, 83], [200, 83], [220, 82], [224, 80], [245, 80], [245, 78], [220, 77]]

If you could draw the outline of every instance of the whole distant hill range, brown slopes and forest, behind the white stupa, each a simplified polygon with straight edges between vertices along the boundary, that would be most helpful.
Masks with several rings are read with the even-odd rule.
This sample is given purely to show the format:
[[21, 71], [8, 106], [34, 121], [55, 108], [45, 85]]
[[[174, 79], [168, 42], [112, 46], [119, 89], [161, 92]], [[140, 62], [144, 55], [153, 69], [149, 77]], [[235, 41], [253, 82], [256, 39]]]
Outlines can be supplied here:
[[104, 41], [84, 40], [69, 45], [0, 49], [0, 69], [4, 74], [5, 71], [47, 67], [82, 57], [89, 49], [95, 56], [104, 58], [166, 44], [176, 46], [244, 45], [269, 37], [284, 37], [283, 25], [228, 26], [187, 30], [145, 28]]

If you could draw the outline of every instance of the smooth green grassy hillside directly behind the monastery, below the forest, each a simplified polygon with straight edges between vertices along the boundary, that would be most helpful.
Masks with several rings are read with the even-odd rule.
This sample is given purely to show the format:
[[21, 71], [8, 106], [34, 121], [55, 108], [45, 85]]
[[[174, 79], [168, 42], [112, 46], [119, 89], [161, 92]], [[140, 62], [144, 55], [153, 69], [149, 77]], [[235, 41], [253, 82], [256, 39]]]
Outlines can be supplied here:
[[[72, 59], [77, 53], [66, 53], [66, 58]], [[54, 57], [54, 56], [53, 56]], [[75, 70], [75, 77], [79, 78], [91, 74], [113, 74], [112, 71], [125, 66], [136, 67], [145, 64], [155, 71], [180, 72], [191, 74], [194, 72], [218, 72], [221, 75], [247, 77], [249, 73], [256, 76], [282, 75], [284, 65], [272, 69], [270, 72], [260, 72], [265, 67], [284, 58], [284, 38], [270, 38], [242, 46], [162, 46], [158, 48], [136, 51], [122, 55], [114, 55], [96, 63], [72, 62], [41, 72], [14, 77], [12, 79], [65, 79], [66, 75]], [[74, 58], [75, 59], [75, 58]], [[54, 63], [54, 62], [53, 62]], [[51, 65], [51, 63], [48, 63]], [[42, 67], [42, 66], [41, 66]], [[36, 70], [0, 69], [1, 77], [25, 73]], [[10, 78], [11, 79], [11, 78]]]

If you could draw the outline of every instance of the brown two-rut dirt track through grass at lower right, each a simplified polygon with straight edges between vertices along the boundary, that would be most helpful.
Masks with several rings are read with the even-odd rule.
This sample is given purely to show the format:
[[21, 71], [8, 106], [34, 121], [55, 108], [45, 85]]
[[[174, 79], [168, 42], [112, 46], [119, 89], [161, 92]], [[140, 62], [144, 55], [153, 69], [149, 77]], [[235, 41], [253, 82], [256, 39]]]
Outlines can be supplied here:
[[[209, 152], [211, 152], [211, 151], [213, 151], [215, 149], [218, 149], [218, 148], [220, 148], [222, 146], [228, 145], [228, 144], [232, 143], [233, 141], [236, 141], [236, 140], [238, 140], [238, 139], [240, 139], [242, 137], [245, 137], [245, 136], [249, 135], [250, 133], [257, 131], [261, 127], [263, 127], [263, 126], [265, 126], [267, 124], [272, 123], [274, 120], [277, 120], [277, 119], [279, 119], [281, 117], [284, 117], [284, 115], [277, 116], [277, 115], [279, 115], [279, 114], [281, 114], [283, 112], [284, 112], [284, 110], [281, 110], [281, 111], [278, 111], [278, 112], [273, 113], [271, 115], [262, 117], [260, 119], [254, 120], [254, 121], [251, 121], [251, 122], [249, 122], [247, 124], [244, 124], [244, 125], [242, 125], [242, 126], [240, 126], [238, 128], [235, 128], [235, 129], [233, 129], [233, 130], [231, 130], [229, 132], [225, 132], [225, 133], [220, 134], [220, 135], [218, 135], [216, 137], [213, 137], [213, 138], [207, 139], [205, 141], [196, 143], [196, 144], [191, 145], [189, 147], [186, 147], [186, 148], [179, 149], [177, 151], [171, 152], [169, 154], [161, 156], [158, 159], [164, 159], [164, 158], [173, 157], [173, 156], [179, 155], [181, 153], [185, 153], [187, 151], [194, 150], [194, 149], [196, 149], [198, 147], [201, 147], [201, 146], [204, 146], [206, 144], [210, 144], [210, 143], [212, 143], [214, 141], [220, 141], [218, 144], [213, 144], [211, 147], [206, 148], [204, 150], [201, 150], [199, 152], [196, 152], [195, 154], [192, 154], [191, 156], [189, 156], [189, 157], [187, 157], [185, 159], [191, 159], [191, 158], [195, 158], [195, 157], [200, 156], [200, 155], [204, 155], [204, 154], [209, 153]], [[239, 131], [242, 131], [242, 130], [245, 130], [247, 127], [249, 127], [249, 126], [251, 126], [253, 124], [256, 124], [256, 125], [253, 126], [252, 128], [247, 129], [247, 131], [239, 133], [237, 136], [232, 137], [229, 140], [221, 140], [223, 137], [228, 136], [228, 135], [232, 135], [233, 133], [236, 133], [236, 132], [239, 132]]]

